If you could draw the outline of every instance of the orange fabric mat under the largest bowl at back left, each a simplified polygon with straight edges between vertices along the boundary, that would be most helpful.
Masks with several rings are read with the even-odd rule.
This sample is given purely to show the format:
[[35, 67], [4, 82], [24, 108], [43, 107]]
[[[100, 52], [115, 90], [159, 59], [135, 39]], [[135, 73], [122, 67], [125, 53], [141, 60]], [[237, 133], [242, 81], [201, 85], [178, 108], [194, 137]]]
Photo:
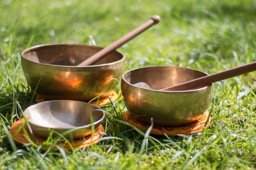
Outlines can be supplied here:
[[[90, 102], [90, 103], [95, 104], [97, 106], [103, 106], [103, 105], [107, 105], [107, 104], [111, 103], [109, 101], [109, 99], [111, 101], [116, 101], [118, 99], [117, 92], [115, 92], [114, 90], [110, 90], [110, 91], [106, 92], [106, 94], [103, 94], [102, 96], [100, 96], [99, 99], [96, 99], [95, 101]], [[57, 100], [57, 99], [53, 99], [53, 98], [49, 98], [49, 97], [47, 98], [46, 96], [43, 96], [43, 95], [38, 95], [36, 98], [36, 102], [45, 102], [45, 101], [52, 101], [52, 100]]]

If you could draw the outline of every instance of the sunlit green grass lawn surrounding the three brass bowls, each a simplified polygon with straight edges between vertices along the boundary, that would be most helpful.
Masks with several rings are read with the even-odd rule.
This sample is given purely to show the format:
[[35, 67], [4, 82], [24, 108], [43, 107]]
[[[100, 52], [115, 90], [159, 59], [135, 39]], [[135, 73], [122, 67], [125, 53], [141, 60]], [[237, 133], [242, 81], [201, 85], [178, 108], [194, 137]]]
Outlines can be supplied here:
[[[35, 103], [20, 53], [45, 43], [106, 47], [158, 14], [162, 21], [119, 48], [126, 70], [181, 66], [215, 73], [256, 61], [254, 0], [0, 1], [0, 169], [256, 169], [256, 74], [215, 84], [212, 122], [191, 136], [148, 136], [104, 107], [106, 138], [82, 150], [21, 146], [6, 132]], [[53, 144], [50, 144], [53, 145]]]

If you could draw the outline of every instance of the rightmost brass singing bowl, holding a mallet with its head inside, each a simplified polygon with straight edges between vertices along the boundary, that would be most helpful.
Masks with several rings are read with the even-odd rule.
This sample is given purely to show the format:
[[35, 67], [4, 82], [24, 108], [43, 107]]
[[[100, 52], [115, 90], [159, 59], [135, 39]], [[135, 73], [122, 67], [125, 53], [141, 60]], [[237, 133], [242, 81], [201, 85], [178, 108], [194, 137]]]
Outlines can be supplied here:
[[[122, 76], [121, 91], [128, 111], [139, 121], [155, 126], [179, 126], [198, 119], [208, 108], [213, 97], [213, 86], [187, 91], [160, 91], [206, 76], [206, 73], [180, 67], [146, 67], [127, 71]], [[151, 89], [133, 84], [144, 82]]]

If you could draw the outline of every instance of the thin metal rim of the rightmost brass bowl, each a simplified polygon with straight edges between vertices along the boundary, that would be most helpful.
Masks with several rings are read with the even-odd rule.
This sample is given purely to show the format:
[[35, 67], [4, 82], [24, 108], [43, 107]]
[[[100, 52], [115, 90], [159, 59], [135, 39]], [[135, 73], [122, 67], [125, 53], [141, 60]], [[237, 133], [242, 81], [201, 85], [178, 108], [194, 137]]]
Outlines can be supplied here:
[[[163, 93], [196, 92], [196, 91], [200, 91], [200, 90], [206, 89], [206, 88], [208, 88], [208, 87], [210, 87], [210, 86], [212, 85], [212, 84], [211, 84], [211, 85], [203, 86], [203, 87], [201, 87], [201, 88], [197, 88], [197, 89], [194, 89], [194, 90], [180, 90], [180, 91], [171, 91], [171, 90], [170, 90], [170, 91], [164, 91], [164, 90], [155, 90], [155, 89], [148, 89], [148, 88], [138, 87], [138, 86], [135, 86], [135, 85], [133, 85], [133, 84], [127, 82], [127, 81], [125, 80], [125, 78], [124, 78], [124, 76], [125, 76], [127, 73], [131, 72], [131, 71], [134, 71], [134, 70], [137, 70], [137, 69], [143, 69], [143, 68], [157, 68], [157, 67], [159, 67], [159, 68], [165, 68], [165, 67], [166, 67], [166, 68], [183, 68], [183, 67], [176, 67], [176, 66], [149, 66], [149, 67], [142, 67], [142, 68], [134, 68], [134, 69], [130, 69], [130, 70], [126, 71], [126, 72], [122, 75], [122, 80], [123, 80], [125, 83], [127, 83], [128, 85], [132, 85], [133, 87], [136, 87], [136, 88], [142, 88], [142, 89], [145, 89], [145, 90], [158, 91], [158, 92], [163, 92]], [[198, 71], [198, 72], [201, 72], [201, 73], [203, 73], [203, 74], [209, 75], [209, 74], [207, 74], [207, 73], [205, 73], [205, 72], [202, 72], [202, 71], [199, 71], [199, 70], [196, 70], [196, 69], [192, 69], [192, 68], [185, 68], [185, 69], [190, 69], [190, 70]]]

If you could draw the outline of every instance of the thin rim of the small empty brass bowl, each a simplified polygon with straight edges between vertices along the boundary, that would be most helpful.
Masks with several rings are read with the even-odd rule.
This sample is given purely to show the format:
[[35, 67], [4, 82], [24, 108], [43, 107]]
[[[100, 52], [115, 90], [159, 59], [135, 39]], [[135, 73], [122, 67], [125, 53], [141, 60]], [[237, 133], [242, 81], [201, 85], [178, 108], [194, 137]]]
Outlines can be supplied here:
[[[55, 101], [46, 101], [46, 102], [58, 102], [58, 101], [74, 101], [74, 100], [55, 100]], [[39, 103], [37, 103], [37, 104], [34, 104], [34, 105], [31, 105], [31, 106], [27, 107], [27, 108], [23, 111], [25, 117], [27, 118], [25, 112], [26, 112], [26, 110], [27, 110], [28, 108], [31, 108], [31, 107], [33, 107], [33, 106], [36, 106], [36, 105], [41, 104], [41, 103], [46, 103], [46, 102], [39, 102]], [[81, 102], [81, 101], [75, 101], [75, 102]], [[89, 105], [93, 105], [93, 106], [97, 107], [99, 110], [101, 110], [101, 112], [102, 112], [102, 117], [101, 117], [98, 121], [95, 121], [95, 122], [93, 122], [93, 123], [91, 123], [91, 124], [87, 124], [87, 125], [85, 125], [85, 126], [74, 127], [75, 129], [84, 129], [84, 128], [88, 128], [88, 127], [90, 127], [90, 126], [92, 126], [92, 125], [96, 125], [96, 124], [100, 123], [100, 122], [104, 119], [105, 114], [104, 114], [104, 111], [103, 111], [101, 108], [99, 108], [98, 106], [96, 106], [96, 105], [94, 105], [94, 104], [90, 104], [90, 103], [88, 103], [88, 102], [82, 102], [82, 103], [89, 104]], [[33, 124], [33, 125], [40, 126], [41, 128], [46, 128], [46, 129], [60, 129], [60, 130], [69, 130], [69, 129], [71, 129], [71, 128], [49, 128], [49, 127], [47, 127], [47, 126], [41, 126], [41, 125], [39, 125], [39, 124], [35, 124], [35, 123], [33, 123], [32, 121], [30, 121], [29, 119], [27, 119], [27, 121], [28, 121], [29, 123]]]

